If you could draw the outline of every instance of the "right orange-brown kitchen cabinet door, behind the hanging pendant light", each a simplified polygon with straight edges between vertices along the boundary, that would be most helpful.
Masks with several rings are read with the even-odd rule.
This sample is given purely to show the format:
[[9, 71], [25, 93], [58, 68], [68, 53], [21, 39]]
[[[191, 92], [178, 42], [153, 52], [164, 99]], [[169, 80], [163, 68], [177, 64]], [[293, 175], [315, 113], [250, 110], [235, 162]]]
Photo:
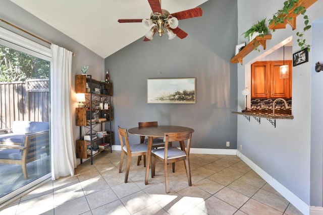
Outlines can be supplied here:
[[279, 70], [280, 66], [283, 65], [283, 61], [277, 61], [271, 63], [271, 98], [290, 98], [291, 97], [291, 78], [292, 67], [291, 61], [286, 61], [289, 67], [289, 78], [280, 79]]

